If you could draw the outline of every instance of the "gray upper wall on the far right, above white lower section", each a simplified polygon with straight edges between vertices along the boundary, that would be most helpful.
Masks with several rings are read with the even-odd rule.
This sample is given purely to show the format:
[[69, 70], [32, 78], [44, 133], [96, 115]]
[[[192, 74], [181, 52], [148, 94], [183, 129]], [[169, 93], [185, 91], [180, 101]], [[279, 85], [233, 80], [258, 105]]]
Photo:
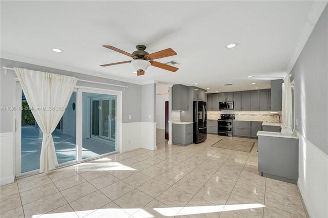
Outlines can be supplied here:
[[328, 154], [328, 11], [323, 11], [291, 74], [295, 75], [295, 129]]

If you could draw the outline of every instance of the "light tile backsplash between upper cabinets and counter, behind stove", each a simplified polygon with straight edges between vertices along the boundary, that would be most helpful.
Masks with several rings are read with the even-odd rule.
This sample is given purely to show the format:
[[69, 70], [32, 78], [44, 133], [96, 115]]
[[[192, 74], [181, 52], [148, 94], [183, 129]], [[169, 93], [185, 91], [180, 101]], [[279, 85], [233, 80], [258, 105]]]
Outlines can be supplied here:
[[[207, 119], [209, 120], [217, 120], [220, 119], [221, 114], [234, 114], [236, 120], [244, 120], [244, 121], [277, 121], [279, 117], [277, 115], [273, 116], [270, 111], [230, 111], [230, 110], [222, 110], [222, 111], [208, 111]], [[278, 112], [281, 119], [281, 112]]]

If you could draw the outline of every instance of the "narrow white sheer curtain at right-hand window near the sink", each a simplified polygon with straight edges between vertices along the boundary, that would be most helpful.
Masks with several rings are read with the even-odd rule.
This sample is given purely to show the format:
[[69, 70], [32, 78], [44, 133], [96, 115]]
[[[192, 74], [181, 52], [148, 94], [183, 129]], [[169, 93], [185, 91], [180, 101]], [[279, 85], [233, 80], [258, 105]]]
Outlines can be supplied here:
[[292, 86], [289, 75], [286, 75], [282, 84], [282, 126], [281, 133], [292, 134]]

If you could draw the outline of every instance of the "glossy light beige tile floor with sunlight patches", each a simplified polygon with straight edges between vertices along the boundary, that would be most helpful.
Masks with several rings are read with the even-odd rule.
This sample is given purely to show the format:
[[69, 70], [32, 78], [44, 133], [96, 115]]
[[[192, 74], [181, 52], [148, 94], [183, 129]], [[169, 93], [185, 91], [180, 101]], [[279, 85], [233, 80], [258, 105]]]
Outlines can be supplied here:
[[1, 217], [306, 217], [294, 184], [261, 177], [249, 152], [200, 144], [136, 149], [1, 186]]

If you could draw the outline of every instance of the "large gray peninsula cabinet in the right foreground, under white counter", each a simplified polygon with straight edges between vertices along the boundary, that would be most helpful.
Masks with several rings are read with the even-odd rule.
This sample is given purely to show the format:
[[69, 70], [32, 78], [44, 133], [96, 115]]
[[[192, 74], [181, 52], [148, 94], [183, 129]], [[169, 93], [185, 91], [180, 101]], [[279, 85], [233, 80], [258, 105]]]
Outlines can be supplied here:
[[297, 184], [298, 139], [258, 136], [258, 171], [263, 177]]

